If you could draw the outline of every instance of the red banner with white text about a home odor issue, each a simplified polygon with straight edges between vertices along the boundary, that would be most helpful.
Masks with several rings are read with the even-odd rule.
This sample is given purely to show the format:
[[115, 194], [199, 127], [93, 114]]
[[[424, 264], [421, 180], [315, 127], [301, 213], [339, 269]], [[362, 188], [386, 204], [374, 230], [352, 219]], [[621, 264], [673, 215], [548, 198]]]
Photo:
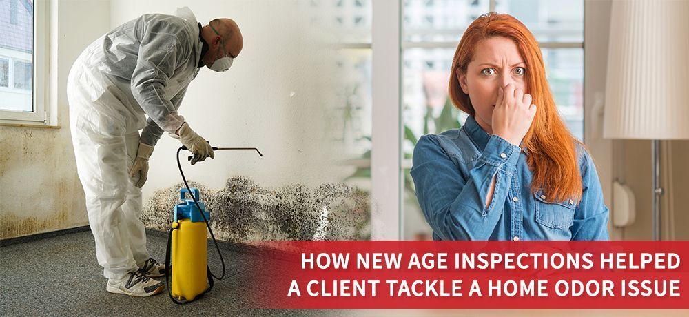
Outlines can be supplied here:
[[689, 308], [689, 241], [274, 241], [260, 308]]

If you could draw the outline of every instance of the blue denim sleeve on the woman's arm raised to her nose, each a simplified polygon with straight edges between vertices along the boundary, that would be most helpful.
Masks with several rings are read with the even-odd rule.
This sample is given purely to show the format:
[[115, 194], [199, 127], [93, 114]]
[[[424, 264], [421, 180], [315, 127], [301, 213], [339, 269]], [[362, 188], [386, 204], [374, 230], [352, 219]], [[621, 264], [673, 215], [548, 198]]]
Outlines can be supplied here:
[[[438, 136], [422, 136], [414, 148], [411, 176], [419, 205], [443, 240], [487, 240], [504, 209], [520, 148], [491, 136], [468, 175], [442, 149]], [[495, 176], [493, 198], [486, 197]]]

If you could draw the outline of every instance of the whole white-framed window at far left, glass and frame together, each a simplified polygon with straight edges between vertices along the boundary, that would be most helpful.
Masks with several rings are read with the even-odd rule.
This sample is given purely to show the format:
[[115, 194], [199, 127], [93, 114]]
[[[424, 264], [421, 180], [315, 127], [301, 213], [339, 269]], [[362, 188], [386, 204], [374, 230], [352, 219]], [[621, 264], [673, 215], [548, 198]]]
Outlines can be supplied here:
[[[0, 123], [47, 123], [48, 1], [0, 1]], [[40, 49], [38, 49], [40, 48]]]

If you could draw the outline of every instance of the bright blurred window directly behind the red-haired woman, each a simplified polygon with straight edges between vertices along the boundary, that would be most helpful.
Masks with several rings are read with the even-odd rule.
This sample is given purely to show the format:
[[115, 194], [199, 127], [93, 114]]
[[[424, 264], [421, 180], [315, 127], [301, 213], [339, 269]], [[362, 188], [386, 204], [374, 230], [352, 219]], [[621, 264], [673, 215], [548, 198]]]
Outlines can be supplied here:
[[[430, 2], [430, 5], [429, 5]], [[464, 30], [481, 14], [508, 13], [539, 41], [548, 83], [570, 131], [584, 138], [583, 0], [404, 0], [402, 5], [402, 238], [430, 238], [409, 175], [423, 134], [460, 127], [466, 119], [447, 95], [449, 65]], [[431, 17], [431, 19], [429, 19]], [[429, 23], [430, 22], [430, 23]]]

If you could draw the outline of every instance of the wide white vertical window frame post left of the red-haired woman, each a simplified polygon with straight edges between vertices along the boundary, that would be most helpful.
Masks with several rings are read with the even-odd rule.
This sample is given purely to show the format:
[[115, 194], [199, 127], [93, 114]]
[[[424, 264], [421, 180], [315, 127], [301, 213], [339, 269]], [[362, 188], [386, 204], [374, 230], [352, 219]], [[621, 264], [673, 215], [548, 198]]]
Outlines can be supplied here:
[[402, 238], [402, 1], [371, 1], [371, 237]]

